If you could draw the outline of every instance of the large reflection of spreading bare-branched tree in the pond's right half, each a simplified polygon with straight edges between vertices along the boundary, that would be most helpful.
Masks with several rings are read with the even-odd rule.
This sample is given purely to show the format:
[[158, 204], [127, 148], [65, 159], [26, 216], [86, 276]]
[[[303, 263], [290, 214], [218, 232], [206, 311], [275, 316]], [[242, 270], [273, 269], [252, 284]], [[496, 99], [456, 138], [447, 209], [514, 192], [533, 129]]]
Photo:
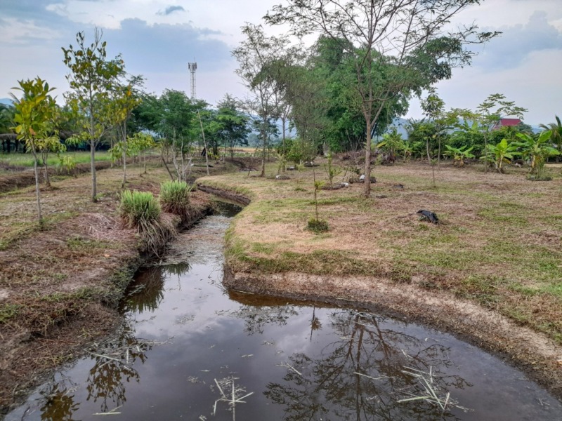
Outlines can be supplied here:
[[[436, 387], [464, 387], [443, 371], [452, 365], [448, 349], [381, 327], [377, 316], [334, 312], [332, 326], [340, 339], [311, 359], [293, 354], [285, 383], [270, 383], [264, 394], [285, 406], [285, 420], [439, 420], [455, 419], [447, 409], [426, 401], [397, 403], [405, 393], [421, 393], [405, 367], [429, 371]], [[443, 412], [443, 413], [442, 413]]]

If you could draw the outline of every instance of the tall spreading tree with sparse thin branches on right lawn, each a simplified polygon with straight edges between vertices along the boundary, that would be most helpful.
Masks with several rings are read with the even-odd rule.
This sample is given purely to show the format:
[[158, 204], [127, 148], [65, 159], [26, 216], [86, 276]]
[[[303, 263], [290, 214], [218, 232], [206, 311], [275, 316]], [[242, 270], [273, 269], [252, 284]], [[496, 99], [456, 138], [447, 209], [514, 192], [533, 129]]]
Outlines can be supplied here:
[[[464, 46], [495, 34], [474, 25], [447, 31], [451, 18], [478, 0], [288, 0], [266, 15], [302, 36], [320, 32], [350, 55], [355, 74], [348, 86], [365, 119], [365, 177], [371, 173], [371, 133], [396, 95], [419, 91], [469, 64]], [[381, 75], [381, 70], [383, 73]], [[365, 183], [365, 196], [370, 184]]]

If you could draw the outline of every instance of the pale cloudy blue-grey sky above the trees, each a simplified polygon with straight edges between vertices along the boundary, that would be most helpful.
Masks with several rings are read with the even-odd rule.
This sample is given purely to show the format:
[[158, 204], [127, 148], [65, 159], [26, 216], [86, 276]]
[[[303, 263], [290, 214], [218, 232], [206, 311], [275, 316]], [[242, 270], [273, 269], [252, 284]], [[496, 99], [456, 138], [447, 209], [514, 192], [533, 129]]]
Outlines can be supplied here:
[[[103, 29], [108, 56], [121, 53], [127, 72], [143, 74], [149, 92], [189, 94], [188, 62], [196, 61], [197, 98], [212, 105], [225, 93], [244, 98], [230, 51], [244, 22], [261, 23], [280, 1], [0, 0], [0, 98], [35, 76], [62, 96], [68, 83], [60, 48], [75, 45], [79, 31], [91, 41], [95, 26]], [[473, 109], [490, 93], [503, 93], [529, 109], [527, 123], [562, 116], [562, 0], [485, 0], [456, 18], [473, 21], [503, 34], [479, 48], [471, 67], [438, 84], [446, 107]], [[421, 117], [416, 101], [407, 116]]]

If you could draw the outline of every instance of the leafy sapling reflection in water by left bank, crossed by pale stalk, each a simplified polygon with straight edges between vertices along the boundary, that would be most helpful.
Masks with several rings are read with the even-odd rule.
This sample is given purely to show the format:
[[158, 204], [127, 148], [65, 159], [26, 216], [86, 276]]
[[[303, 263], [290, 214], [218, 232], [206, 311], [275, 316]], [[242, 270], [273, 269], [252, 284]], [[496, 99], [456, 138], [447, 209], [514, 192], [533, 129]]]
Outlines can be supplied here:
[[122, 406], [126, 401], [125, 385], [140, 381], [133, 364], [137, 360], [146, 361], [145, 353], [152, 348], [152, 342], [135, 338], [134, 333], [131, 326], [124, 323], [117, 338], [91, 352], [95, 364], [89, 372], [86, 400], [99, 401], [101, 412]]

